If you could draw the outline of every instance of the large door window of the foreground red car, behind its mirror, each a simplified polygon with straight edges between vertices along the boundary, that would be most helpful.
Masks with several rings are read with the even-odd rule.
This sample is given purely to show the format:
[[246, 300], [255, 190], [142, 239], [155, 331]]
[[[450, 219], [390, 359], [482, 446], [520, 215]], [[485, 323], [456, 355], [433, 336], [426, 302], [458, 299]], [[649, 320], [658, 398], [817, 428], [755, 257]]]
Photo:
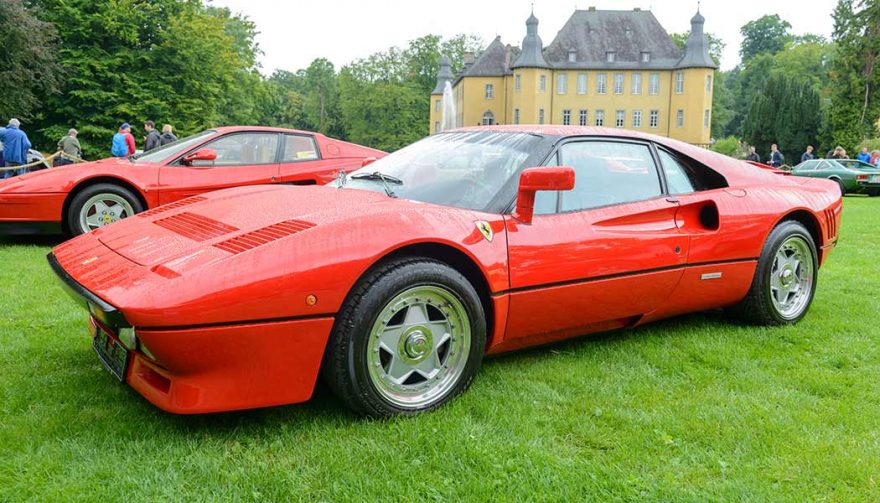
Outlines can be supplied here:
[[647, 145], [611, 141], [567, 143], [559, 162], [575, 171], [574, 190], [562, 191], [561, 211], [660, 197], [657, 167]]

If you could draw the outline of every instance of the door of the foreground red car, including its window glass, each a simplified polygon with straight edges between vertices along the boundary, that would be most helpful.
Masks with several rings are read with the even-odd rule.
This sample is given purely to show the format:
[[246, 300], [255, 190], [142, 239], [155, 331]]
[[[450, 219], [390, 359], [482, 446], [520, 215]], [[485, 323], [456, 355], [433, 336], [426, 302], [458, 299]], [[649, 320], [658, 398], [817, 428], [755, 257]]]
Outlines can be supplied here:
[[583, 140], [557, 154], [575, 170], [574, 189], [539, 193], [531, 225], [506, 219], [506, 341], [635, 323], [669, 296], [687, 257], [648, 144]]

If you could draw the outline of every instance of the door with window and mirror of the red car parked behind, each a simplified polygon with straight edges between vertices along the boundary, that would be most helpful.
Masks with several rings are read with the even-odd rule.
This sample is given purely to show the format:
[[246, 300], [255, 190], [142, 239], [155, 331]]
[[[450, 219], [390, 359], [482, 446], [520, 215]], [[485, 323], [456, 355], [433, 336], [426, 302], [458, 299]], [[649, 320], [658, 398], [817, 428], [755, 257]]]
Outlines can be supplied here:
[[159, 203], [229, 187], [274, 183], [279, 143], [278, 133], [246, 131], [229, 133], [200, 146], [198, 149], [216, 151], [217, 159], [187, 165], [181, 156], [163, 166], [159, 171]]

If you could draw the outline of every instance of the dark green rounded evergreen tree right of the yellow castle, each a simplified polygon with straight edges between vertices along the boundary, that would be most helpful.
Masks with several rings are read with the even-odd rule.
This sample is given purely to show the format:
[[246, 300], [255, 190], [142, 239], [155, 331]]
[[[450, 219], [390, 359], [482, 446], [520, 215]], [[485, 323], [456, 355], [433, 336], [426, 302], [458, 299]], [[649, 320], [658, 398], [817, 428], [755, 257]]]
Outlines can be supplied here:
[[749, 107], [744, 138], [762, 153], [776, 143], [786, 158], [793, 160], [815, 143], [821, 120], [818, 110], [819, 93], [809, 82], [774, 75]]

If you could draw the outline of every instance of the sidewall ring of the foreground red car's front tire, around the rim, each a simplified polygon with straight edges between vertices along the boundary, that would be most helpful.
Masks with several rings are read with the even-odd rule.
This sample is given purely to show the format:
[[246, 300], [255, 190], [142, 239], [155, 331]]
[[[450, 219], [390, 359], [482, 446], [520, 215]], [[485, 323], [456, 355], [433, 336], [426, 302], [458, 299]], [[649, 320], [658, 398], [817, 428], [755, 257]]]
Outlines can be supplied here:
[[[404, 408], [385, 399], [369, 377], [367, 345], [370, 332], [385, 305], [403, 291], [422, 285], [439, 286], [455, 295], [467, 312], [471, 341], [467, 362], [459, 380], [444, 395], [431, 404], [419, 408]], [[382, 416], [415, 414], [435, 409], [470, 385], [482, 362], [486, 341], [486, 322], [483, 306], [473, 286], [455, 269], [431, 260], [405, 264], [380, 277], [355, 306], [354, 324], [347, 334], [347, 374], [351, 385], [368, 412]]]

